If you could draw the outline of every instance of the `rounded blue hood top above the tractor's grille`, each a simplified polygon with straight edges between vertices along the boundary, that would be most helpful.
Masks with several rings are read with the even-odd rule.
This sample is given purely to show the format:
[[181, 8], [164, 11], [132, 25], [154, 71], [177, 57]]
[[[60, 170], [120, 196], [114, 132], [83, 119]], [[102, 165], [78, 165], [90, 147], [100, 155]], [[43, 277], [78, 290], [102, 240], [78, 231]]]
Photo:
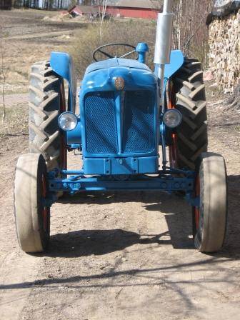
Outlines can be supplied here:
[[146, 64], [130, 59], [108, 59], [91, 64], [81, 84], [81, 96], [90, 91], [116, 91], [115, 80], [124, 79], [123, 90], [156, 90], [157, 78]]

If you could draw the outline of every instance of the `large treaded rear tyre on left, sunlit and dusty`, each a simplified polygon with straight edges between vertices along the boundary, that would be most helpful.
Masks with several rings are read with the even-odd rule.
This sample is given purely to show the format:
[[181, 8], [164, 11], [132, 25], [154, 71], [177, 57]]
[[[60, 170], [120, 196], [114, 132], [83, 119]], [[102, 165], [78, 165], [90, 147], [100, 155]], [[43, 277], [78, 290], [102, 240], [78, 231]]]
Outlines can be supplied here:
[[31, 66], [29, 148], [30, 152], [43, 154], [48, 171], [63, 166], [58, 125], [63, 88], [63, 80], [54, 73], [48, 61]]

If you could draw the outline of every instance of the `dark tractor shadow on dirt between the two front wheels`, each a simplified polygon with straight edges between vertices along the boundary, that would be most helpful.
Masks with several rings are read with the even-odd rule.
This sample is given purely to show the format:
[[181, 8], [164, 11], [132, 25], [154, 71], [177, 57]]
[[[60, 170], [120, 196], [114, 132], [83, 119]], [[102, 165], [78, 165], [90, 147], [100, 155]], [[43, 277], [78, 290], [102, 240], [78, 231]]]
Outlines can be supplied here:
[[[91, 193], [66, 196], [61, 204], [97, 204], [99, 206], [123, 202], [141, 202], [146, 211], [165, 216], [168, 230], [161, 234], [138, 234], [122, 229], [79, 230], [51, 236], [47, 256], [89, 256], [109, 254], [134, 244], [171, 245], [175, 249], [194, 249], [191, 236], [191, 208], [181, 196], [169, 196], [157, 191], [131, 191], [116, 193]], [[171, 210], [171, 211], [169, 211]], [[161, 224], [159, 219], [159, 224]], [[104, 224], [104, 221], [103, 221]]]

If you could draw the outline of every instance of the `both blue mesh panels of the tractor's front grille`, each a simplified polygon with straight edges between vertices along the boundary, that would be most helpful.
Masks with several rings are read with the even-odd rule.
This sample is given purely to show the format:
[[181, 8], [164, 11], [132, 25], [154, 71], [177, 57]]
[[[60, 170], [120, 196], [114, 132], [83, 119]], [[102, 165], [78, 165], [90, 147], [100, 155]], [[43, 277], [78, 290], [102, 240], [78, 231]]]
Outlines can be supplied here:
[[[151, 91], [125, 91], [121, 96], [122, 130], [117, 128], [113, 91], [86, 95], [86, 151], [89, 154], [134, 154], [154, 150], [154, 94]], [[119, 121], [120, 123], [120, 121]], [[117, 131], [122, 132], [118, 150]]]

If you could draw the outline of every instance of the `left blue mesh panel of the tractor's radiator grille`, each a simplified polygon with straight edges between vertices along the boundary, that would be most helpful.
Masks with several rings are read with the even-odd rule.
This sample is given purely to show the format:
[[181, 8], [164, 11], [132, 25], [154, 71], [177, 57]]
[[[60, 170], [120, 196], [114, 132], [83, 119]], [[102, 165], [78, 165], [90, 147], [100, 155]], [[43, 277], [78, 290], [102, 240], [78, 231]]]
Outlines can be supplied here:
[[86, 150], [91, 154], [116, 154], [114, 92], [88, 94], [85, 98], [85, 116]]

